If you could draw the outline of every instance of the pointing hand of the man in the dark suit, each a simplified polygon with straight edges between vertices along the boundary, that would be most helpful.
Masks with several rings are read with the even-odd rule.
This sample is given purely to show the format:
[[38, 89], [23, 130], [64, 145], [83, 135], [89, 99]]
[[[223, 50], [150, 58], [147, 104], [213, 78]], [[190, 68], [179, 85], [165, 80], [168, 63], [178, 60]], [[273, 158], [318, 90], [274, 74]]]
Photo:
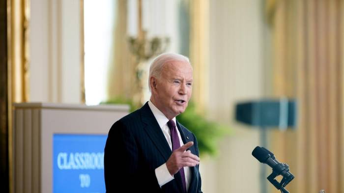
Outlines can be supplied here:
[[184, 166], [192, 167], [200, 164], [200, 158], [198, 156], [192, 154], [190, 150], [185, 151], [192, 145], [194, 145], [194, 142], [189, 141], [183, 146], [179, 147], [179, 149], [173, 151], [169, 160], [166, 162], [167, 169], [171, 175], [176, 174], [179, 169]]

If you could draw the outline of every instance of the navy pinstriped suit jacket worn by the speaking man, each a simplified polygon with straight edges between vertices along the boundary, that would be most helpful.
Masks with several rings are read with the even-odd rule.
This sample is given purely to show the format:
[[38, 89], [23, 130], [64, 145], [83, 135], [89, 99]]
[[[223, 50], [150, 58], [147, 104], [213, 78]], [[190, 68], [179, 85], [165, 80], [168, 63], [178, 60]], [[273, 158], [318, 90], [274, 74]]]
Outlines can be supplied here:
[[[177, 122], [185, 143], [194, 141], [189, 150], [199, 156], [197, 139]], [[172, 151], [148, 103], [116, 121], [105, 145], [104, 172], [108, 193], [182, 193], [180, 175], [161, 188], [155, 168], [170, 158]], [[199, 165], [191, 168], [188, 193], [201, 193]]]

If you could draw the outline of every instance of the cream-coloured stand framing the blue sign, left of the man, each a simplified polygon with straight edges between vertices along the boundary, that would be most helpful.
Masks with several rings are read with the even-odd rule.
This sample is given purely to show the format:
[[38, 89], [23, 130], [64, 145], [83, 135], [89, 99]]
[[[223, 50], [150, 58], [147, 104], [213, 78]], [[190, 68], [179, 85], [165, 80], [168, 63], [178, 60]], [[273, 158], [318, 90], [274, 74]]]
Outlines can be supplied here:
[[53, 189], [54, 135], [107, 135], [112, 124], [129, 112], [127, 105], [18, 103], [13, 106], [14, 193], [56, 190]]

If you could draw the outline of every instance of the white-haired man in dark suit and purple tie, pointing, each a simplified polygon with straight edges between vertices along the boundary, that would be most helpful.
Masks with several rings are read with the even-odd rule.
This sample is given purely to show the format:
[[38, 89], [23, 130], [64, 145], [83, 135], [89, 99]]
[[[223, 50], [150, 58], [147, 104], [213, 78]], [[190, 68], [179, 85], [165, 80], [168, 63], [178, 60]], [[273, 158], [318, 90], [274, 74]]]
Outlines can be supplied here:
[[[183, 55], [162, 54], [149, 69], [150, 100], [115, 122], [106, 141], [109, 193], [201, 193], [199, 150], [175, 116], [192, 93], [192, 66]], [[197, 120], [195, 120], [197, 121]]]

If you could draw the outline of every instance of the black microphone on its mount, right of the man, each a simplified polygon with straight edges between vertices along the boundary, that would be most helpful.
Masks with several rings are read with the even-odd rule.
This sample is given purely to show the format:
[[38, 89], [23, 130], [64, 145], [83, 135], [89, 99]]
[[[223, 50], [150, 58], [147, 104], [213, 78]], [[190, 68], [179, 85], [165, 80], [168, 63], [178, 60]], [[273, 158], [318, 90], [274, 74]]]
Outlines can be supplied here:
[[252, 151], [252, 155], [260, 163], [264, 163], [272, 167], [272, 171], [275, 172], [276, 175], [282, 175], [284, 177], [284, 180], [281, 181], [282, 187], [285, 187], [292, 179], [294, 179], [294, 175], [289, 172], [289, 166], [278, 162], [274, 154], [264, 147], [257, 146]]

